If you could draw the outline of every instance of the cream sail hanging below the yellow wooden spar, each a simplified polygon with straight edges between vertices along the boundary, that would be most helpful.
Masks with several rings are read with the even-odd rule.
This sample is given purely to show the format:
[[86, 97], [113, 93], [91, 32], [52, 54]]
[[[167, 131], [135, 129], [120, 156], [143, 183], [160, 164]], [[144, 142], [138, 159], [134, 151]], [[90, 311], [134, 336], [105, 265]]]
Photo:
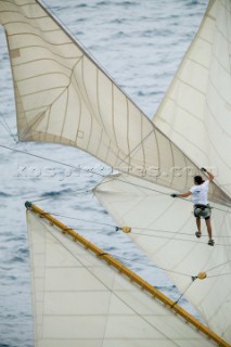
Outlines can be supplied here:
[[43, 218], [27, 221], [35, 347], [215, 345]]

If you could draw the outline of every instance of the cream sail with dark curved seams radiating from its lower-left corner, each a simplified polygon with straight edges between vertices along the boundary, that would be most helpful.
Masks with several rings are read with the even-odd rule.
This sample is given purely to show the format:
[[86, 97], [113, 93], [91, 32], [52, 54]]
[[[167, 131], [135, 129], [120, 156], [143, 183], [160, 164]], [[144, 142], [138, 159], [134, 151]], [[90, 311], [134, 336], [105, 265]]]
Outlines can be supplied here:
[[[197, 171], [193, 162], [38, 1], [2, 0], [0, 23], [9, 44], [21, 141], [76, 146], [120, 171], [175, 190], [189, 188], [189, 177]], [[229, 201], [218, 188], [210, 194]]]

